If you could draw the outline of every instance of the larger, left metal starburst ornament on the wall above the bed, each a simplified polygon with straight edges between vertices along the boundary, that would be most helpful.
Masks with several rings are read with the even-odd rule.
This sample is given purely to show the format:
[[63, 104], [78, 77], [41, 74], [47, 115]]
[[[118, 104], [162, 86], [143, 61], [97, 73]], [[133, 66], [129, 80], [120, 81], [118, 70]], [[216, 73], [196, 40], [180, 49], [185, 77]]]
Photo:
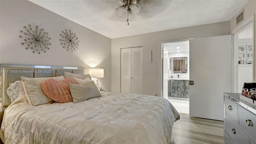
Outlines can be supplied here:
[[33, 31], [30, 24], [28, 27], [29, 28], [24, 26], [26, 32], [20, 30], [20, 32], [26, 35], [20, 36], [20, 38], [25, 38], [25, 42], [22, 42], [21, 44], [26, 44], [26, 49], [28, 50], [28, 48], [31, 48], [33, 53], [35, 53], [35, 50], [38, 51], [38, 54], [41, 54], [41, 51], [46, 52], [47, 49], [49, 50], [50, 48], [48, 46], [52, 44], [49, 43], [51, 38], [47, 36], [48, 32], [44, 32], [43, 28], [38, 31], [38, 26], [36, 26], [36, 30]]

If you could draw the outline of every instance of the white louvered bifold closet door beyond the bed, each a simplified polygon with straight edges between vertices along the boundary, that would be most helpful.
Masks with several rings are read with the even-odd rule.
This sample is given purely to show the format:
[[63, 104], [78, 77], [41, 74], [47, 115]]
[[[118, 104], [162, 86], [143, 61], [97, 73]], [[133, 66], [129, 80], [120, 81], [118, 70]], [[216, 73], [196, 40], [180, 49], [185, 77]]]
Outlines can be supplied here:
[[121, 92], [142, 94], [142, 47], [121, 49]]

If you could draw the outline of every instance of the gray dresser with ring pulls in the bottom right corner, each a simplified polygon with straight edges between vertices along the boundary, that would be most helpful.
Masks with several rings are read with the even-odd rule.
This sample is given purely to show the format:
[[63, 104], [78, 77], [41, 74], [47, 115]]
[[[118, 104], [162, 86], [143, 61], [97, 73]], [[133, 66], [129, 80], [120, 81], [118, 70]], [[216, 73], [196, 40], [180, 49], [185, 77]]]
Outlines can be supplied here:
[[224, 143], [256, 144], [256, 106], [225, 92], [224, 110]]

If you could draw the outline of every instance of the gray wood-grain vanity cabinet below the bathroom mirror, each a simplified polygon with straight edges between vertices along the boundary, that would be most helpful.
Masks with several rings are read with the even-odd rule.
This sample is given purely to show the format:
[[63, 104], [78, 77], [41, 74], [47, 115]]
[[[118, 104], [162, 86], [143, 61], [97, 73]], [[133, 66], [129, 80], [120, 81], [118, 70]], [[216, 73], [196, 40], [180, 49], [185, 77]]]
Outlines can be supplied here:
[[189, 80], [181, 78], [168, 79], [168, 97], [189, 98]]

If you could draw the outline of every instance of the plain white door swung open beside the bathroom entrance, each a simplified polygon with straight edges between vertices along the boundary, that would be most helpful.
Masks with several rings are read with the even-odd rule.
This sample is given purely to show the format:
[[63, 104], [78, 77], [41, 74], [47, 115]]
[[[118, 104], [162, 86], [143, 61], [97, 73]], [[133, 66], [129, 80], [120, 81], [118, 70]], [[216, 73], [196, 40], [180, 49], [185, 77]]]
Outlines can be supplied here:
[[190, 116], [224, 120], [224, 92], [232, 90], [232, 36], [190, 40]]

